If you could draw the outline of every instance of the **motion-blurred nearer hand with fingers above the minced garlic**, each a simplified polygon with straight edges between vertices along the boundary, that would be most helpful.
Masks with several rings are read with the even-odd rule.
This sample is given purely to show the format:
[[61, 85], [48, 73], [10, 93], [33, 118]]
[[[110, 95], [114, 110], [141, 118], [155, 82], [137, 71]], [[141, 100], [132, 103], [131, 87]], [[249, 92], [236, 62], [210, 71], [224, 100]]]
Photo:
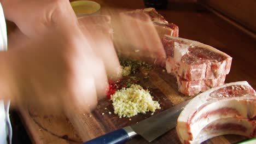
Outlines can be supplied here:
[[121, 74], [108, 18], [100, 16], [98, 23], [97, 17], [86, 17], [79, 26], [46, 29], [39, 37], [13, 33], [8, 64], [16, 71], [12, 104], [51, 115], [63, 110], [80, 137], [88, 137], [87, 126], [79, 120], [97, 99], [106, 97], [106, 72], [113, 78]]

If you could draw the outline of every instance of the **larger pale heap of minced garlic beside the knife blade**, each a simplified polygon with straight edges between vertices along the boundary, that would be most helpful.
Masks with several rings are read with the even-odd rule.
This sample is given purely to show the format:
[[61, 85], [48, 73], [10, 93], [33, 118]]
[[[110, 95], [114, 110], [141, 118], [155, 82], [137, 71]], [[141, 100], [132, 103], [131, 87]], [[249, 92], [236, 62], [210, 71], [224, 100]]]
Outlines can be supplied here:
[[139, 85], [122, 88], [111, 95], [114, 113], [121, 117], [132, 117], [138, 113], [155, 112], [160, 109], [158, 101], [154, 101], [148, 90]]

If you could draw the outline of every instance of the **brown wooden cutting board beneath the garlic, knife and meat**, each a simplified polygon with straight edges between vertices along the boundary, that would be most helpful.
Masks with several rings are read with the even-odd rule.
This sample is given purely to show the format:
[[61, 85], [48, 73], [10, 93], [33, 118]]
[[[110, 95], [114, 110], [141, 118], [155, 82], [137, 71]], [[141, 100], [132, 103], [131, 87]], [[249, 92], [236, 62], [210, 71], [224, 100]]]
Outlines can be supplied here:
[[[148, 78], [145, 73], [148, 73]], [[153, 99], [159, 101], [161, 109], [156, 110], [155, 114], [191, 98], [177, 91], [175, 77], [167, 74], [163, 68], [156, 67], [150, 71], [142, 69], [136, 76], [139, 77], [139, 84], [143, 87], [149, 87], [154, 97]], [[36, 143], [79, 143], [82, 140], [89, 140], [121, 127], [135, 124], [151, 116], [151, 112], [148, 112], [146, 115], [139, 114], [131, 117], [131, 119], [119, 118], [114, 114], [112, 101], [106, 98], [99, 102], [92, 113], [76, 113], [76, 115], [80, 115], [76, 116], [79, 118], [76, 121], [80, 122], [80, 127], [84, 127], [85, 130], [89, 129], [89, 131], [84, 131], [82, 134], [84, 137], [81, 139], [65, 115], [45, 115], [36, 110], [22, 110], [21, 112], [25, 118], [25, 123], [29, 124], [27, 125], [28, 128], [32, 130], [31, 137], [36, 138], [33, 140]], [[109, 112], [112, 114], [109, 114]], [[234, 143], [245, 139], [242, 136], [219, 136], [205, 143]], [[152, 143], [165, 142], [180, 143], [175, 129], [168, 131], [168, 133], [160, 136]], [[128, 143], [148, 142], [141, 136], [137, 136]]]

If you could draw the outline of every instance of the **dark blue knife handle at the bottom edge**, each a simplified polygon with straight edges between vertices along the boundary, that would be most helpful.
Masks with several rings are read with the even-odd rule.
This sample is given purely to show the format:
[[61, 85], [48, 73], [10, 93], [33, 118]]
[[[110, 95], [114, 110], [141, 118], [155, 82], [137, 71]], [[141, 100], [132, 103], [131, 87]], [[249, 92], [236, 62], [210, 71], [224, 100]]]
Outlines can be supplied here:
[[86, 141], [83, 144], [98, 144], [98, 143], [106, 143], [106, 144], [117, 144], [117, 143], [125, 143], [129, 141], [130, 137], [127, 132], [121, 128], [111, 133], [96, 137], [90, 141]]

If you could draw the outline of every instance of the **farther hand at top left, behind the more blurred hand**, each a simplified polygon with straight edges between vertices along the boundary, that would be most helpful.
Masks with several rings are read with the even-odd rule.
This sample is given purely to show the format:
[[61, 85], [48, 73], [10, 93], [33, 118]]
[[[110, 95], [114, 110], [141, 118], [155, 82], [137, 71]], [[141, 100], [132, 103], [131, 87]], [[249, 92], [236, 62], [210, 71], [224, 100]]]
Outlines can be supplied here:
[[13, 21], [27, 37], [49, 29], [72, 27], [77, 17], [68, 0], [1, 0], [5, 18]]

